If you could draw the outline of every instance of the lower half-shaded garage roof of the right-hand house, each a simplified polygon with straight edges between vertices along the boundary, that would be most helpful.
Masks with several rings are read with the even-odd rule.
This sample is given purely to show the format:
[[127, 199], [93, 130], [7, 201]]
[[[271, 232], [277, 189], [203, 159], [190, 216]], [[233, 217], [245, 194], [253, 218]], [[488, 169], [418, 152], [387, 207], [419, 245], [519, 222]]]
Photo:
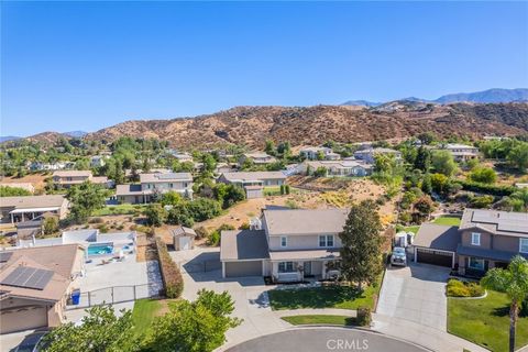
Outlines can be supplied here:
[[436, 223], [421, 224], [413, 245], [432, 250], [457, 251], [460, 243], [459, 228]]

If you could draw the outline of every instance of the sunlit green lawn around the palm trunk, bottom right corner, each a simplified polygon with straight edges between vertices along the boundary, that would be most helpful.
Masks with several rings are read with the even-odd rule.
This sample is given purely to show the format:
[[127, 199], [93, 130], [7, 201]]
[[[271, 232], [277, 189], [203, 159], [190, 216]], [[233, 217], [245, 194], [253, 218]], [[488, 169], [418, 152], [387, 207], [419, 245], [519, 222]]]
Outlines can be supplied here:
[[[448, 298], [448, 331], [492, 351], [508, 350], [509, 300], [488, 290], [483, 299]], [[517, 323], [516, 349], [528, 344], [528, 317]]]

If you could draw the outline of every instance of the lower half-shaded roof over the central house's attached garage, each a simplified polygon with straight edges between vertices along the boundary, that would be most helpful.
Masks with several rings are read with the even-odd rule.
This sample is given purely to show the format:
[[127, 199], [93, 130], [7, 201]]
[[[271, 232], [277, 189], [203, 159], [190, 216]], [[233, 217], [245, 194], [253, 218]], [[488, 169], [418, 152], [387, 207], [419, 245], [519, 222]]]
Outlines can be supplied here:
[[221, 261], [268, 258], [266, 233], [263, 230], [222, 231]]

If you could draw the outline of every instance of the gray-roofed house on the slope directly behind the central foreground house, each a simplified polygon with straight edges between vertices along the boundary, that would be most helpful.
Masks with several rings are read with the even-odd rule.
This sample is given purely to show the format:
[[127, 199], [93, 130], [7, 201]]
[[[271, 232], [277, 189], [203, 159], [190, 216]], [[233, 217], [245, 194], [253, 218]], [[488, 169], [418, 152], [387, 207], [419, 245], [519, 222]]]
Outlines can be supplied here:
[[286, 175], [283, 172], [241, 172], [223, 173], [217, 182], [241, 186], [245, 189], [248, 199], [263, 197], [266, 186], [280, 186], [286, 184]]

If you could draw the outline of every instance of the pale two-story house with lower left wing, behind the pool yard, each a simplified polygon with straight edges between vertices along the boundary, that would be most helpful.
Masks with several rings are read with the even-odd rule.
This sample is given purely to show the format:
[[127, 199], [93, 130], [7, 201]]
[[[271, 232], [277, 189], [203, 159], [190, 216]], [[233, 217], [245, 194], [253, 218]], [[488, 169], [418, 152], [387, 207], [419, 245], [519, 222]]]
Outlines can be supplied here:
[[116, 197], [121, 204], [148, 204], [158, 195], [176, 191], [193, 199], [190, 173], [140, 174], [140, 184], [116, 186]]

